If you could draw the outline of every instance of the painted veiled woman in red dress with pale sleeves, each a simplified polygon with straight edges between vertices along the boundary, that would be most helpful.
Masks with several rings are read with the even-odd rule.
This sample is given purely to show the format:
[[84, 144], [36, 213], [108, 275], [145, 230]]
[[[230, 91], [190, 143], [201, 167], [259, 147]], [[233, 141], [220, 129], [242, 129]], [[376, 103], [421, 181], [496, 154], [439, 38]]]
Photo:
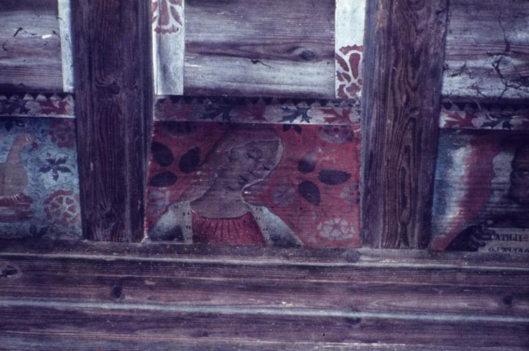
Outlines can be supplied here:
[[234, 126], [209, 152], [194, 185], [167, 206], [149, 230], [152, 241], [218, 245], [298, 246], [302, 242], [266, 206], [243, 194], [273, 172], [283, 144], [273, 129]]

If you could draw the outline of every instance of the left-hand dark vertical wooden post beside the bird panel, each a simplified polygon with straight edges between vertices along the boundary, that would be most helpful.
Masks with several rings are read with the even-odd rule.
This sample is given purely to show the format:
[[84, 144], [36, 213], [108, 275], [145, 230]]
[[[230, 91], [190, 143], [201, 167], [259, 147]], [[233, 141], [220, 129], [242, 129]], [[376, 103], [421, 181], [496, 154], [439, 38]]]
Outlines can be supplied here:
[[143, 238], [152, 121], [149, 1], [72, 1], [85, 238]]

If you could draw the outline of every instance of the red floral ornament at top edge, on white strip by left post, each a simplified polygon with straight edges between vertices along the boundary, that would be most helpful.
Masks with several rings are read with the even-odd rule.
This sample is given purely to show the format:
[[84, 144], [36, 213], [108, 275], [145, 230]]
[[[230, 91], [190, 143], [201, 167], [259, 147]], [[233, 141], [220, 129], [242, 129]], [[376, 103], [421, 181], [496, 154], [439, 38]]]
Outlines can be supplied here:
[[152, 23], [158, 34], [176, 33], [182, 30], [183, 0], [156, 0], [152, 6]]

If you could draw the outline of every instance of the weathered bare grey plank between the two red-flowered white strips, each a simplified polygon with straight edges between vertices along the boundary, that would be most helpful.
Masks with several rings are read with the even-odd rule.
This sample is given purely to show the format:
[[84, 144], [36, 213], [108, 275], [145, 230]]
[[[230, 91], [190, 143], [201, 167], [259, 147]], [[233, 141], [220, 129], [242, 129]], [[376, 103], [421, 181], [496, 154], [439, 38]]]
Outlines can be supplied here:
[[334, 97], [333, 0], [187, 0], [185, 94]]

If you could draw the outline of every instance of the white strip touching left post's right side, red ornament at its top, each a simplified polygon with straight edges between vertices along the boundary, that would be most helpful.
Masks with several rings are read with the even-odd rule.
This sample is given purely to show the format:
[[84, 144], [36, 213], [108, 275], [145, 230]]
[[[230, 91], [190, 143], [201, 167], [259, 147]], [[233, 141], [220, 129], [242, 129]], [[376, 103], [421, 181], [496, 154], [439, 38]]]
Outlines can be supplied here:
[[152, 1], [154, 93], [184, 93], [184, 0]]

